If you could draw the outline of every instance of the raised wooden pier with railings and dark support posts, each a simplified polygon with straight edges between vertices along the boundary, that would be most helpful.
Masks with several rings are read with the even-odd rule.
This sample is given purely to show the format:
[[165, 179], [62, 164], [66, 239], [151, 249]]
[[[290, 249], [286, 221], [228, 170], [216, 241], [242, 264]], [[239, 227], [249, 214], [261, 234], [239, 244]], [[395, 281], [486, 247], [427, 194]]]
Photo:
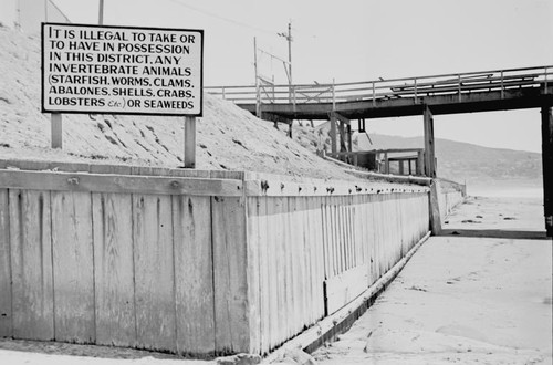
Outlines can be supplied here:
[[[207, 92], [257, 113], [258, 117], [292, 124], [294, 119], [331, 122], [331, 156], [353, 154], [352, 125], [358, 119], [421, 115], [424, 174], [437, 175], [436, 115], [540, 108], [544, 217], [553, 237], [553, 65], [441, 74], [367, 82], [257, 86], [213, 86]], [[493, 138], [493, 136], [490, 136]], [[340, 142], [340, 143], [338, 143]], [[349, 158], [352, 157], [352, 158]], [[347, 159], [353, 160], [354, 156]]]

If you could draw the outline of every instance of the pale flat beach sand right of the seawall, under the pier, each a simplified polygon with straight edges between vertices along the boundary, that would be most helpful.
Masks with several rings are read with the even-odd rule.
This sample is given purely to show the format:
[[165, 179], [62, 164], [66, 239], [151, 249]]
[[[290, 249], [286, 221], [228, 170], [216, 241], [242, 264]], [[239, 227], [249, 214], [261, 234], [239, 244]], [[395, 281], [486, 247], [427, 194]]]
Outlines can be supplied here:
[[[540, 232], [536, 208], [535, 199], [472, 198], [448, 226]], [[476, 216], [480, 223], [463, 222]], [[467, 236], [431, 237], [317, 363], [551, 364], [552, 241]]]

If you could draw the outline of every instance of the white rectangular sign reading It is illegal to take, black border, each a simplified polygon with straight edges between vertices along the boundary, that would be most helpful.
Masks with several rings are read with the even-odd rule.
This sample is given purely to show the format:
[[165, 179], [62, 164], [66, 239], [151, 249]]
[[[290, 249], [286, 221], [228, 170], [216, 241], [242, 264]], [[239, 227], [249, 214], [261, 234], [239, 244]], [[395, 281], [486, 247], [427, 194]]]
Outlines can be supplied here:
[[42, 24], [42, 111], [202, 114], [204, 31]]

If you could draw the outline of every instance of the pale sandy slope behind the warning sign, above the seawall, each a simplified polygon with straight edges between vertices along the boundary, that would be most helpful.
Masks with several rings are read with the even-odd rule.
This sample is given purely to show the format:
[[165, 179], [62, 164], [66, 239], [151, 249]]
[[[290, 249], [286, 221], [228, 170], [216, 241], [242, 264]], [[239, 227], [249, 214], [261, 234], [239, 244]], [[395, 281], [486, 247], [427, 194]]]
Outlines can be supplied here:
[[[184, 118], [63, 115], [63, 150], [50, 146], [40, 112], [40, 36], [0, 27], [0, 158], [86, 160], [178, 167]], [[226, 101], [205, 95], [197, 122], [197, 168], [353, 179], [301, 144]]]

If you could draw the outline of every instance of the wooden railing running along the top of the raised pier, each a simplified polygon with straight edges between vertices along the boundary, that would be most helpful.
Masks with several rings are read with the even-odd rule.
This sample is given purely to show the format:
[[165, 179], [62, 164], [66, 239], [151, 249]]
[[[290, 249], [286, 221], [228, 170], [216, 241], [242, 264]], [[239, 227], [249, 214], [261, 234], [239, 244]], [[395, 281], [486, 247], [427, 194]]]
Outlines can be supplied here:
[[[325, 83], [325, 84], [273, 84], [271, 97], [257, 100], [255, 85], [208, 86], [207, 92], [220, 95], [237, 104], [313, 104], [337, 102], [373, 101], [380, 98], [397, 98], [409, 96], [417, 103], [418, 98], [431, 94], [461, 95], [476, 90], [501, 92], [512, 87], [532, 87], [553, 82], [553, 65], [504, 69], [492, 71], [466, 72], [455, 74], [438, 74], [429, 76], [375, 80], [364, 82]], [[262, 96], [262, 95], [261, 95]], [[269, 95], [267, 95], [269, 96]], [[259, 96], [258, 96], [259, 97]]]

